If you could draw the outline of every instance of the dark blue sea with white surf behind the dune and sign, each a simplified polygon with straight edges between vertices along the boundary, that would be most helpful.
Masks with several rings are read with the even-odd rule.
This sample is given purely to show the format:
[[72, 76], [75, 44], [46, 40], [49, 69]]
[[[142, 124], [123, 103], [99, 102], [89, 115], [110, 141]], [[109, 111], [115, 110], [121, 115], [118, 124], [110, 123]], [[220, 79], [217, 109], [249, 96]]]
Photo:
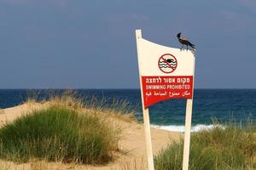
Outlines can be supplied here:
[[[101, 101], [104, 106], [125, 101], [135, 111], [137, 121], [143, 122], [140, 89], [75, 89], [86, 102]], [[47, 99], [49, 94], [65, 93], [65, 89], [0, 89], [0, 109], [20, 105], [28, 97]], [[171, 99], [149, 107], [152, 127], [183, 132], [186, 99]], [[1, 114], [1, 113], [0, 113]], [[216, 122], [236, 122], [245, 126], [256, 122], [256, 89], [195, 89], [191, 132], [212, 128]]]

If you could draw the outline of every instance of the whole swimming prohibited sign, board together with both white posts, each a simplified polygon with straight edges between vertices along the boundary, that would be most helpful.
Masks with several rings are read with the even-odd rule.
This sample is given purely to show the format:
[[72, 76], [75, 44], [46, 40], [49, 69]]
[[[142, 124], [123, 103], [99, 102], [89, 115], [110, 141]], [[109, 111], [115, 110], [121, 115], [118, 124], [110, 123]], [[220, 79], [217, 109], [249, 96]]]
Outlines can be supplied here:
[[195, 53], [149, 42], [141, 30], [136, 31], [136, 39], [148, 169], [154, 170], [148, 107], [166, 99], [187, 99], [183, 170], [188, 170]]

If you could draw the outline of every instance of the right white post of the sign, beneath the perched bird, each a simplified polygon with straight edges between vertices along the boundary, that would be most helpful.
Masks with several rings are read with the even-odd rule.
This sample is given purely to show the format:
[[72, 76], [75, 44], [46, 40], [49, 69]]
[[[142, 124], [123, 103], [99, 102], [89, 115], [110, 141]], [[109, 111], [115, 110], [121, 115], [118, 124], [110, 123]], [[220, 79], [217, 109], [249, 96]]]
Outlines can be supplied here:
[[192, 99], [187, 99], [186, 106], [186, 118], [185, 118], [185, 134], [184, 134], [184, 146], [183, 146], [183, 170], [189, 170], [189, 148], [190, 148], [190, 130], [192, 121], [192, 108], [193, 108], [193, 96], [194, 96], [194, 79], [195, 79], [195, 51], [194, 54], [194, 73], [193, 73], [193, 94]]

